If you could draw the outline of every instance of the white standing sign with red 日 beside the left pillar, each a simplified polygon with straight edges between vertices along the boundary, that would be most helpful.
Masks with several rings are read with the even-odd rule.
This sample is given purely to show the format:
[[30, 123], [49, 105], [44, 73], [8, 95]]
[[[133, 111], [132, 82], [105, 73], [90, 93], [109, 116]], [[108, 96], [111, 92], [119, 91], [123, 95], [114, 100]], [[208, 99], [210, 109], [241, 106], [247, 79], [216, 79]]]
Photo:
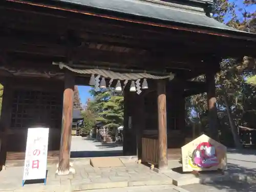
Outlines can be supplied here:
[[45, 179], [46, 184], [48, 137], [49, 128], [28, 129], [23, 186], [32, 179]]

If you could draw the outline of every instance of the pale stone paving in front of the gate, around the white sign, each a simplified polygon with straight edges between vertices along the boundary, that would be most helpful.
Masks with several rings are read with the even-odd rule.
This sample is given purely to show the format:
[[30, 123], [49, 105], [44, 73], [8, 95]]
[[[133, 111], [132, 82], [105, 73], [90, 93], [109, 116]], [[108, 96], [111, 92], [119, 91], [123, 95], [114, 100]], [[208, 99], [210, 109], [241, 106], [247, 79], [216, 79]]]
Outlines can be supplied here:
[[94, 168], [85, 160], [73, 161], [76, 173], [69, 176], [56, 176], [56, 165], [48, 166], [47, 184], [25, 184], [22, 187], [23, 167], [7, 167], [0, 172], [0, 191], [65, 192], [86, 189], [169, 185], [173, 180], [158, 174], [149, 167], [137, 164], [134, 160], [123, 159], [124, 167]]

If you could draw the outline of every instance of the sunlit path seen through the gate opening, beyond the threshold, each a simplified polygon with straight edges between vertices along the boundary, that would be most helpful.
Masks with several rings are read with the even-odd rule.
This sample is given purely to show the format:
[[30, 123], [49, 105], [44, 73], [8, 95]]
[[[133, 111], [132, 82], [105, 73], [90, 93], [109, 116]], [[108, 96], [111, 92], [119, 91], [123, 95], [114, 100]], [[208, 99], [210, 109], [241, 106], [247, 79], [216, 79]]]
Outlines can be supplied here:
[[72, 137], [71, 158], [122, 156], [123, 147], [116, 143], [101, 143], [94, 139]]

